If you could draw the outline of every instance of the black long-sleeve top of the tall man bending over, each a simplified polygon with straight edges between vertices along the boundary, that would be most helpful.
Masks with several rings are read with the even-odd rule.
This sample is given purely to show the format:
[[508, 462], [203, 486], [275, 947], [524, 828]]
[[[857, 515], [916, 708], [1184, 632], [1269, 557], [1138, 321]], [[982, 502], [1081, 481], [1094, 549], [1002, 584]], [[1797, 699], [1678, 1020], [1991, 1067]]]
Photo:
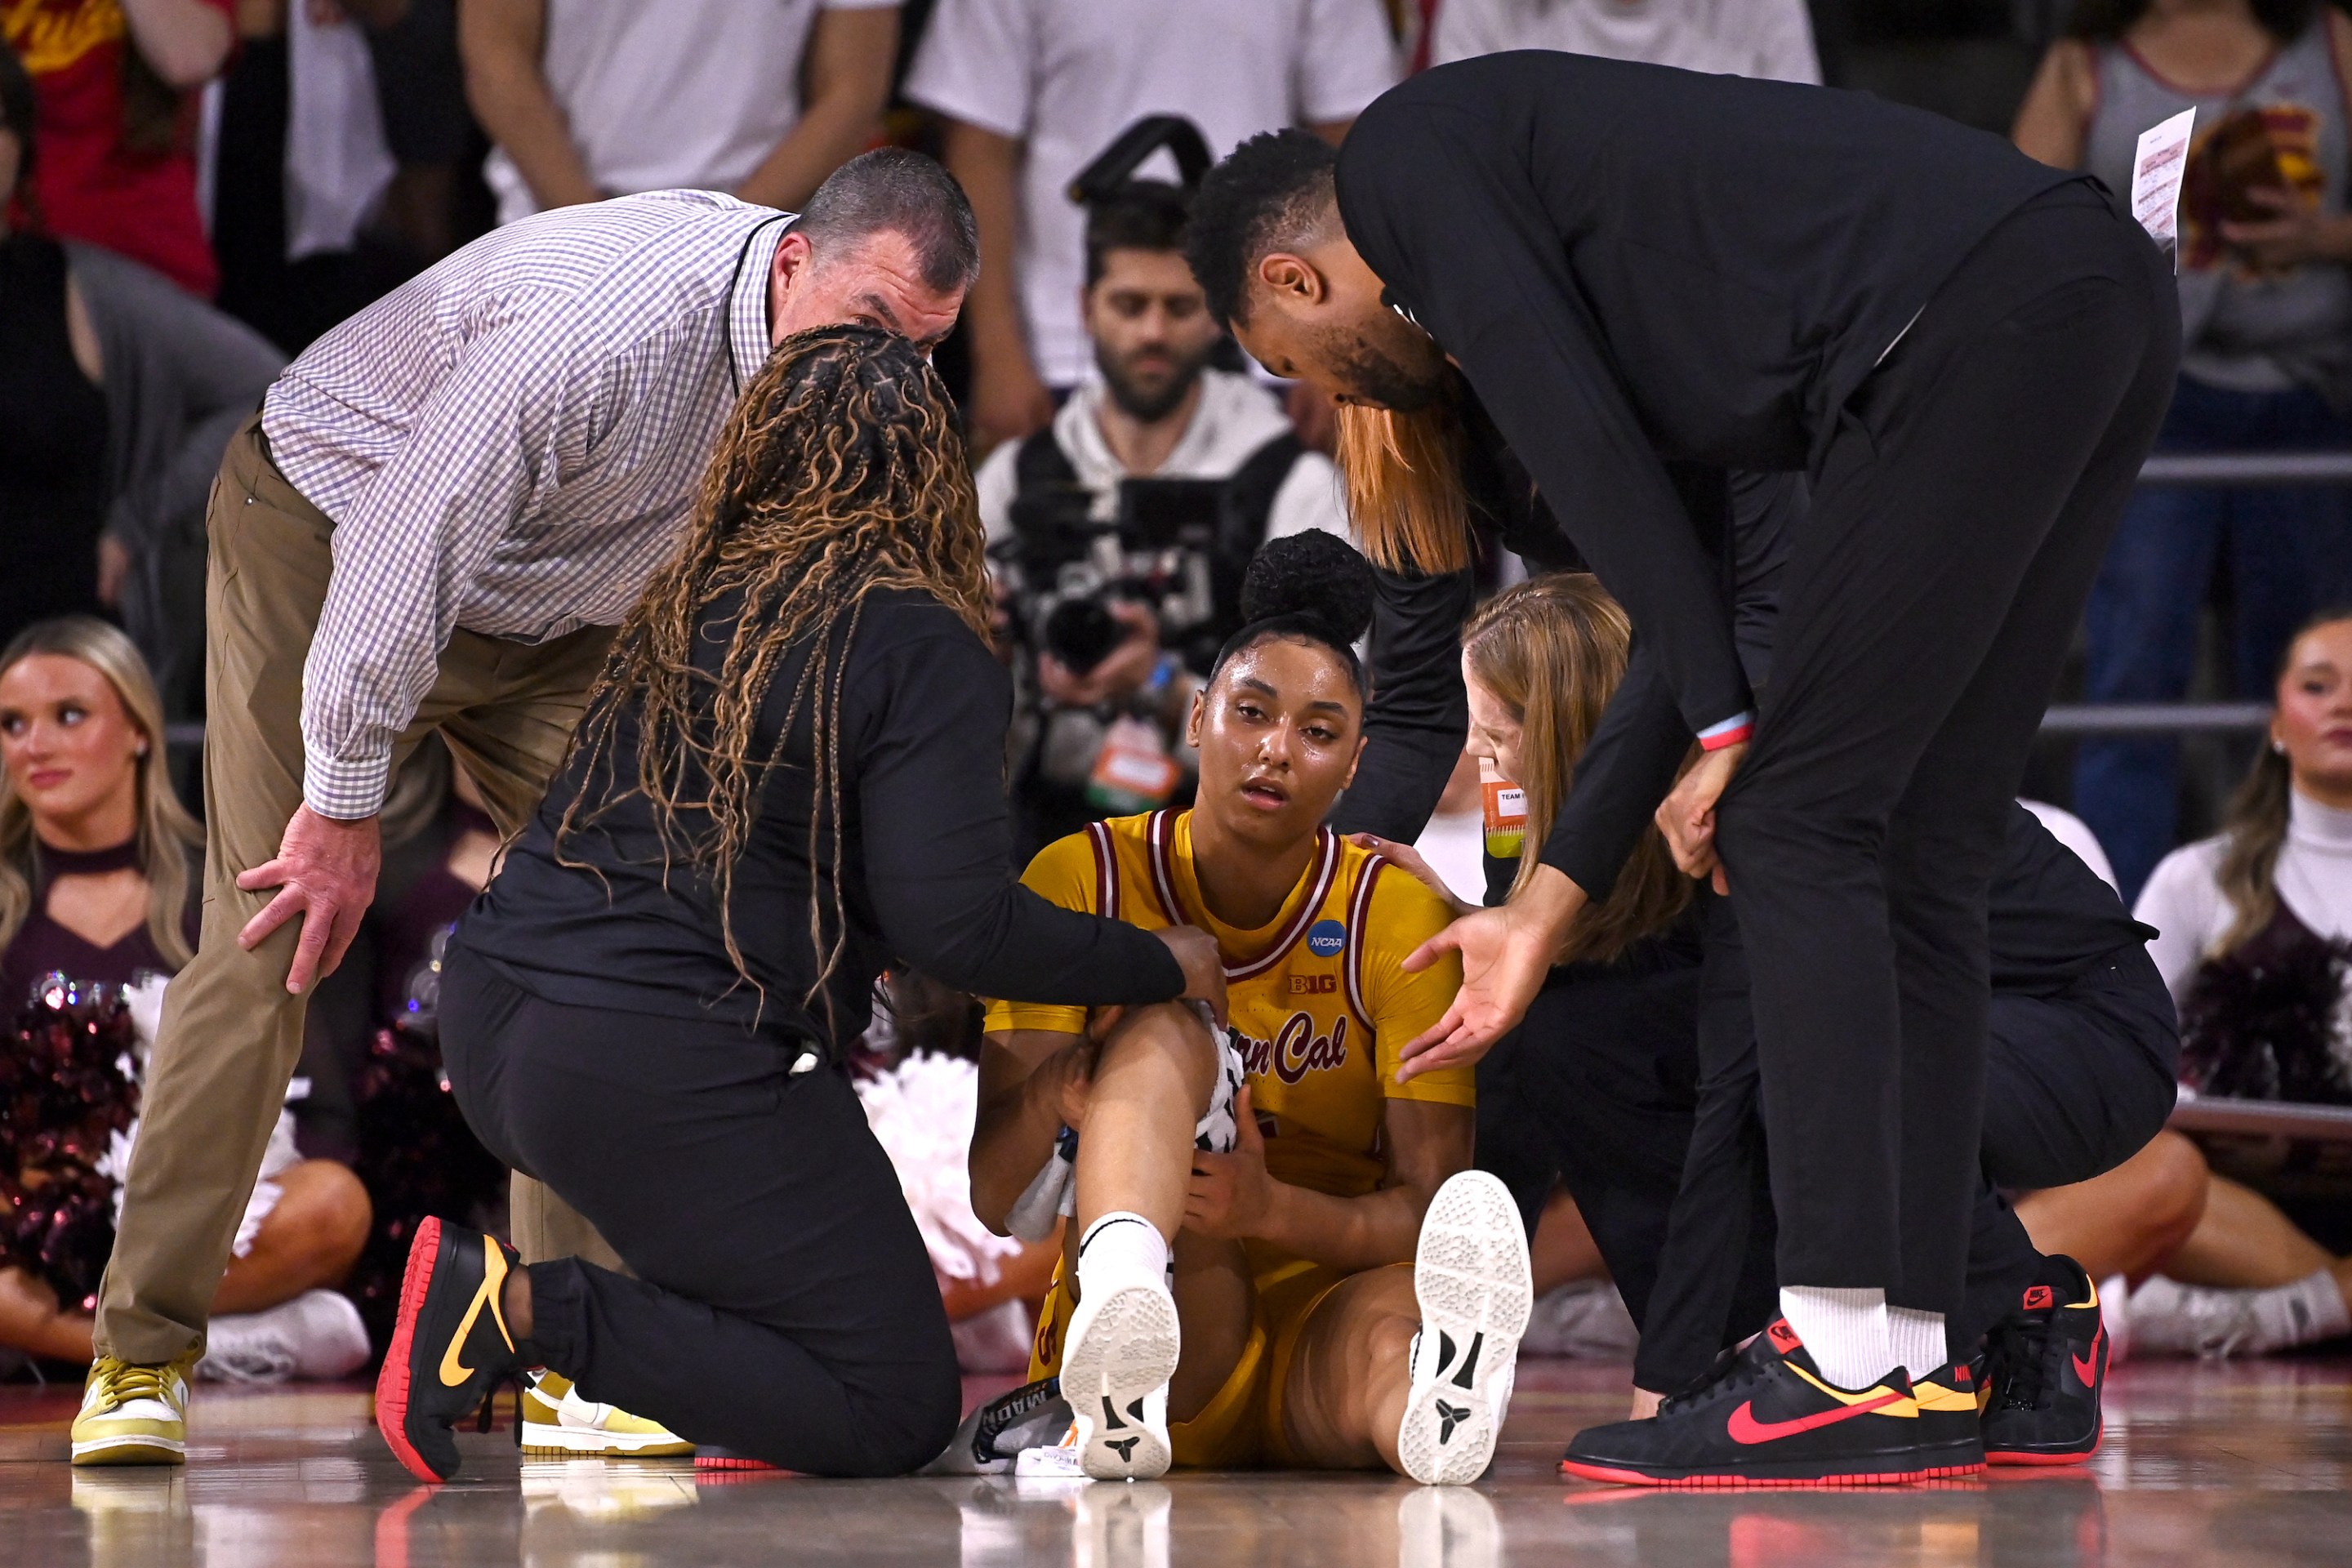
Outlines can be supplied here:
[[2070, 179], [1858, 92], [1531, 49], [1383, 94], [1338, 207], [1696, 733], [1752, 701], [1668, 463], [1811, 465], [1959, 259]]

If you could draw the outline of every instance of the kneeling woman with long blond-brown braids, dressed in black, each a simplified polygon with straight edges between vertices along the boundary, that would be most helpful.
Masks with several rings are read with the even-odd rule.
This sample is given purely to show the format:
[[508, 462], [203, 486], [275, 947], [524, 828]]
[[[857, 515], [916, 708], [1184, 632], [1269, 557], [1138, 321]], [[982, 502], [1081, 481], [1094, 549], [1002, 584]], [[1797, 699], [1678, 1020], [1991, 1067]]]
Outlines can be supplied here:
[[875, 976], [1223, 1004], [1204, 933], [1014, 882], [981, 538], [917, 348], [776, 348], [442, 969], [466, 1119], [635, 1276], [426, 1220], [376, 1399], [416, 1474], [447, 1479], [449, 1425], [527, 1366], [769, 1465], [922, 1465], [957, 1420], [955, 1352], [840, 1070]]

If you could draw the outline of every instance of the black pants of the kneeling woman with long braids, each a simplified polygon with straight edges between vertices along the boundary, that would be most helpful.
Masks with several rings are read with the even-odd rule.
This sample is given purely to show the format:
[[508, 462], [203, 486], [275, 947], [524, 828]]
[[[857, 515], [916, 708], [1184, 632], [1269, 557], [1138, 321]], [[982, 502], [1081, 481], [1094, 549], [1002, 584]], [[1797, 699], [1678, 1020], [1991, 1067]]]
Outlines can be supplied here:
[[849, 1081], [797, 1041], [541, 1001], [452, 947], [442, 1056], [466, 1121], [637, 1279], [532, 1265], [536, 1359], [583, 1399], [821, 1476], [938, 1458], [948, 1314]]

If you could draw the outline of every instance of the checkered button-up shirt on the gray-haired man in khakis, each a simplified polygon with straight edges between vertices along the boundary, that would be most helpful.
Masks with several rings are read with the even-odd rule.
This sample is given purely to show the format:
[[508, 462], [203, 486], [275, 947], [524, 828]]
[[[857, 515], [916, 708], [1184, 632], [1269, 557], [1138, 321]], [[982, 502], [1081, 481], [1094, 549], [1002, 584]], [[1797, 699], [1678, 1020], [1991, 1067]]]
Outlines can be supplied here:
[[261, 428], [334, 520], [303, 665], [303, 799], [383, 804], [393, 743], [466, 628], [619, 625], [769, 353], [788, 214], [656, 190], [510, 223], [313, 343]]

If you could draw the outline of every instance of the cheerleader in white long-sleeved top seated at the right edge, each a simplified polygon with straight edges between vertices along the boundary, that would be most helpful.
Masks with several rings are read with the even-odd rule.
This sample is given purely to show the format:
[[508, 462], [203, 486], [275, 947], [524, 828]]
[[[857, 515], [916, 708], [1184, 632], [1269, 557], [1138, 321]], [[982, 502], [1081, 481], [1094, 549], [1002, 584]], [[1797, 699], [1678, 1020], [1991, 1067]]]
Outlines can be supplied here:
[[[2147, 952], [2180, 1004], [2183, 1081], [2352, 1103], [2352, 611], [2293, 637], [2225, 830], [2166, 856], [2133, 914], [2159, 931]], [[2018, 1218], [2093, 1276], [2159, 1269], [2129, 1302], [2107, 1291], [2119, 1352], [2263, 1354], [2352, 1331], [2352, 1262], [2178, 1133], [2020, 1199]]]

